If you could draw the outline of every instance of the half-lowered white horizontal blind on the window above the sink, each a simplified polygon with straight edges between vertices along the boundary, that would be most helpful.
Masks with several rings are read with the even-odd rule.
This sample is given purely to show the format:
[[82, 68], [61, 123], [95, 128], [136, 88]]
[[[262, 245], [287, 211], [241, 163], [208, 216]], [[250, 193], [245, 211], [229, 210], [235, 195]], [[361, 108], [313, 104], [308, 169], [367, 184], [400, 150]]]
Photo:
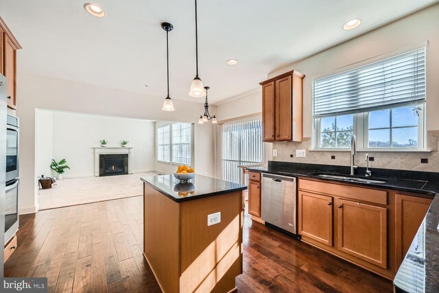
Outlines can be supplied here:
[[425, 102], [425, 47], [313, 82], [313, 117]]

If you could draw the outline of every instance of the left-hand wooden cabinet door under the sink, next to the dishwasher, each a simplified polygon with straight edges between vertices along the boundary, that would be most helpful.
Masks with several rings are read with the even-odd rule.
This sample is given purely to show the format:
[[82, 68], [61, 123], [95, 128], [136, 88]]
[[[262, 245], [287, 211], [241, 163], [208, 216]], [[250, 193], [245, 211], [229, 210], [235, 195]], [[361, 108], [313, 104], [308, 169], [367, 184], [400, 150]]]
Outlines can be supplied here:
[[332, 246], [333, 198], [300, 191], [298, 210], [298, 233]]

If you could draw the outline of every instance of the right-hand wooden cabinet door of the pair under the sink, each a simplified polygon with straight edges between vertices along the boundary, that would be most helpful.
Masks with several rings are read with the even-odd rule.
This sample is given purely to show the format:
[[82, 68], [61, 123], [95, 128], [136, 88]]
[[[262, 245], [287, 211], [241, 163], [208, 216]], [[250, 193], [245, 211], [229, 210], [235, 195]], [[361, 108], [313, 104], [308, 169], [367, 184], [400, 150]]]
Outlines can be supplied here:
[[387, 209], [338, 200], [338, 250], [387, 268]]

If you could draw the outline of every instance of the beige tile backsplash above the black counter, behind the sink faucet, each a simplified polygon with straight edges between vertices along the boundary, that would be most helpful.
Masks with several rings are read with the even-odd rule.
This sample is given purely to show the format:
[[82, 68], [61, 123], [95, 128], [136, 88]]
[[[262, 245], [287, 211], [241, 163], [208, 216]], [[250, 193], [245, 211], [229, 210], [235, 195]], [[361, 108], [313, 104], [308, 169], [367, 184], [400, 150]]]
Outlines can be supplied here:
[[[366, 167], [366, 153], [374, 158], [369, 166], [385, 169], [405, 169], [414, 171], [439, 172], [438, 141], [439, 130], [427, 131], [427, 149], [431, 152], [357, 152], [355, 165]], [[350, 165], [351, 152], [310, 151], [311, 138], [304, 137], [301, 143], [273, 143], [277, 156], [273, 161], [314, 163], [326, 165]], [[296, 157], [296, 150], [306, 150], [305, 158]], [[290, 155], [293, 154], [291, 157]], [[331, 157], [335, 156], [335, 159]], [[428, 159], [428, 163], [420, 163]]]

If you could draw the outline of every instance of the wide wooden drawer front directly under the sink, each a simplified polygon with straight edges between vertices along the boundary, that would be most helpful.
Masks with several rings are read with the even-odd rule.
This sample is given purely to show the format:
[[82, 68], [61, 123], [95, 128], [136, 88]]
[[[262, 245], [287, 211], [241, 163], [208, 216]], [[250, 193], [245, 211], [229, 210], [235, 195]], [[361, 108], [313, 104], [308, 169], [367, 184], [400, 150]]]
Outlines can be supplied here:
[[387, 191], [341, 185], [339, 183], [326, 183], [315, 180], [299, 180], [299, 189], [318, 192], [322, 194], [336, 194], [340, 198], [352, 198], [376, 204], [387, 204]]

